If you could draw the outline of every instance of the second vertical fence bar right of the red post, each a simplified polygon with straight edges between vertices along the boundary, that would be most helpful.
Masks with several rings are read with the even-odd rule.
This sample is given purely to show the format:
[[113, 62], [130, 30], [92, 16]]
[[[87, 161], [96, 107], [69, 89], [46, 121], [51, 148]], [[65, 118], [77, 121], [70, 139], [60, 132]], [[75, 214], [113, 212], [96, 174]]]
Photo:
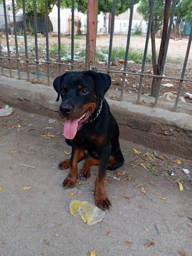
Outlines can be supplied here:
[[[133, 20], [133, 7], [134, 7], [134, 0], [131, 0], [130, 17], [129, 17], [129, 29], [128, 29], [128, 34], [127, 34], [127, 46], [126, 46], [126, 51], [125, 51], [124, 69], [123, 69], [124, 72], [127, 69], [127, 60], [128, 60], [130, 37], [131, 37], [131, 26], [132, 26], [132, 20]], [[124, 73], [123, 74], [123, 79], [122, 79], [122, 85], [121, 85], [121, 99], [123, 98], [123, 93], [124, 93], [125, 77], [126, 77], [126, 75]]]

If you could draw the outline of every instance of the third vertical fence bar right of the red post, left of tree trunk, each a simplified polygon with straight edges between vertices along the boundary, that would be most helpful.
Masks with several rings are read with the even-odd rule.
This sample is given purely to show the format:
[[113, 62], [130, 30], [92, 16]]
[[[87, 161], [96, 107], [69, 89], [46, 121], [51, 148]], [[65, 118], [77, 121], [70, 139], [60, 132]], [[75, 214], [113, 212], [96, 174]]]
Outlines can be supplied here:
[[[146, 35], [146, 41], [145, 41], [145, 49], [144, 49], [143, 63], [142, 63], [142, 67], [141, 67], [141, 74], [144, 73], [145, 63], [146, 63], [146, 58], [147, 58], [147, 49], [148, 49], [149, 38], [150, 38], [150, 29], [151, 29], [151, 22], [152, 22], [153, 6], [154, 6], [154, 0], [151, 0], [151, 5], [150, 5], [150, 18], [149, 18], [149, 23], [148, 23], [148, 27], [147, 27], [147, 35]], [[141, 96], [142, 82], [143, 82], [143, 76], [140, 76], [139, 87], [138, 87], [138, 93], [137, 93], [137, 101], [136, 101], [137, 104], [138, 104], [139, 99], [140, 99], [140, 96]]]

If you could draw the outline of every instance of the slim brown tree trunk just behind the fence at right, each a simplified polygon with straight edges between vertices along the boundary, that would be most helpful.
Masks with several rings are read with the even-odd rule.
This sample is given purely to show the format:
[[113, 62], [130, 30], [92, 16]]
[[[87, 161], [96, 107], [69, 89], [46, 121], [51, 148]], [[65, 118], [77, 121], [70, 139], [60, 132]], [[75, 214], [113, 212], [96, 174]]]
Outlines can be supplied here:
[[[163, 31], [161, 36], [161, 45], [159, 49], [159, 56], [158, 56], [158, 63], [155, 68], [154, 75], [159, 76], [161, 73], [161, 66], [163, 62], [164, 50], [165, 50], [165, 43], [167, 39], [167, 31], [168, 31], [168, 24], [169, 24], [169, 11], [170, 11], [170, 0], [165, 0], [165, 8], [164, 8], [164, 24], [163, 24]], [[156, 54], [156, 53], [155, 53]], [[151, 96], [155, 97], [157, 93], [158, 84], [162, 79], [160, 78], [153, 78], [152, 80], [152, 88], [151, 88]]]

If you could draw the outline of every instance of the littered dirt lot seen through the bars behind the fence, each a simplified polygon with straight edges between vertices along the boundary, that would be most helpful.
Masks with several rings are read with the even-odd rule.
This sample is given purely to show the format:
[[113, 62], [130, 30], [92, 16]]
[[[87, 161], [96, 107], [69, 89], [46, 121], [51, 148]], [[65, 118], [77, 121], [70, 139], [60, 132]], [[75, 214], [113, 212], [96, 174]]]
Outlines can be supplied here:
[[[79, 44], [79, 49], [82, 50], [85, 48], [85, 36], [82, 36], [83, 39], [75, 39], [75, 44]], [[24, 49], [24, 39], [23, 38], [18, 38], [19, 40], [19, 47], [22, 47]], [[57, 37], [49, 37], [49, 44], [50, 44], [50, 49], [51, 46], [53, 46], [55, 43], [57, 43]], [[126, 40], [127, 36], [126, 35], [114, 35], [113, 37], [113, 47], [116, 46], [122, 46], [126, 47]], [[160, 46], [161, 39], [156, 38], [156, 47], [157, 51]], [[6, 45], [6, 38], [1, 38], [1, 43], [3, 45]], [[68, 36], [61, 37], [61, 43], [64, 44], [67, 47], [71, 47], [71, 39], [68, 38]], [[183, 62], [184, 62], [184, 56], [186, 53], [186, 47], [187, 47], [188, 39], [182, 39], [182, 40], [173, 40], [170, 39], [169, 41], [169, 49], [168, 49], [168, 56], [171, 58], [171, 61], [167, 61], [165, 64], [164, 68], [164, 76], [172, 76], [172, 77], [177, 77], [180, 78], [182, 68], [183, 68]], [[34, 45], [34, 38], [28, 39], [28, 44]], [[45, 38], [44, 37], [39, 37], [38, 38], [38, 44], [40, 48], [45, 48]], [[133, 47], [138, 50], [144, 50], [144, 44], [145, 44], [145, 36], [142, 35], [132, 35], [130, 39], [130, 47]], [[14, 38], [10, 40], [10, 45], [14, 47]], [[150, 42], [149, 42], [149, 54], [150, 53]], [[97, 37], [97, 47], [108, 47], [109, 46], [109, 36], [103, 36], [99, 35]], [[35, 59], [35, 51], [29, 51], [29, 58]], [[15, 57], [15, 53], [11, 53], [12, 57]], [[20, 58], [25, 58], [25, 52], [20, 52]], [[46, 53], [45, 50], [44, 52], [39, 52], [39, 58], [44, 58], [46, 59]], [[179, 61], [178, 61], [179, 59]], [[58, 61], [56, 58], [51, 58], [51, 61]], [[66, 60], [63, 61], [62, 64], [70, 64], [70, 61]], [[78, 66], [79, 68], [74, 68], [75, 71], [78, 70], [83, 70], [85, 68], [85, 62], [78, 60], [74, 61], [74, 64]], [[12, 69], [17, 70], [17, 63], [16, 61], [11, 61]], [[141, 71], [141, 65], [140, 63], [129, 63], [127, 65], [127, 70], [129, 72], [133, 73], [139, 73]], [[8, 68], [8, 61], [3, 61], [3, 66], [5, 68]], [[51, 77], [56, 77], [57, 74], [59, 74], [59, 69], [58, 66], [55, 64], [50, 64], [50, 76]], [[106, 69], [107, 65], [106, 64], [99, 64], [96, 63], [96, 67]], [[113, 70], [122, 70], [124, 67], [124, 64], [119, 64], [118, 66], [112, 66], [111, 69]], [[26, 64], [25, 62], [20, 64], [20, 69], [21, 71], [26, 72]], [[34, 73], [36, 71], [36, 65], [32, 62], [29, 63], [29, 70], [30, 73]], [[66, 71], [71, 70], [71, 67], [62, 65], [61, 66], [61, 73], [65, 73]], [[149, 73], [152, 70], [152, 64], [150, 62], [146, 63], [146, 68], [145, 68], [145, 73]], [[47, 76], [47, 64], [40, 64], [40, 72], [42, 75]], [[112, 88], [114, 90], [121, 90], [121, 84], [122, 84], [122, 74], [117, 74], [117, 73], [111, 73], [112, 76]], [[186, 66], [186, 73], [185, 73], [185, 78], [191, 79], [192, 77], [192, 50], [189, 53], [189, 60], [188, 64]], [[125, 91], [127, 92], [132, 92], [132, 93], [137, 93], [138, 92], [138, 85], [139, 85], [139, 80], [140, 76], [137, 75], [127, 75], [126, 76], [127, 81], [125, 82]], [[166, 87], [162, 86], [161, 87], [161, 92], [160, 95], [166, 92], [172, 92], [173, 94], [177, 94], [178, 92], [178, 86], [179, 86], [179, 81], [177, 80], [171, 80], [171, 79], [163, 79], [162, 84], [167, 84], [171, 83], [173, 86], [172, 87]], [[143, 86], [142, 86], [142, 94], [150, 94], [151, 93], [151, 84], [152, 84], [152, 78], [149, 77], [144, 77], [143, 79]], [[184, 96], [184, 94], [188, 92], [191, 93], [191, 83], [189, 82], [183, 82], [182, 89], [181, 89], [181, 96]], [[187, 100], [188, 101], [188, 100]]]

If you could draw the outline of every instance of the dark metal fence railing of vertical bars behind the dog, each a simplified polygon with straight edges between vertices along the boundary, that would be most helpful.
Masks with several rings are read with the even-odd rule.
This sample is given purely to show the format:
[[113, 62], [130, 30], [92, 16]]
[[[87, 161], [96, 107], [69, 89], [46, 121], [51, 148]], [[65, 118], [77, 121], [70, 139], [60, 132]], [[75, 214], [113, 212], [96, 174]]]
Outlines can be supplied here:
[[[18, 20], [16, 18], [15, 14], [15, 3], [14, 0], [12, 0], [12, 11], [13, 11], [13, 18], [10, 20], [8, 19], [8, 14], [7, 14], [7, 9], [6, 9], [6, 0], [3, 0], [3, 9], [4, 9], [4, 17], [3, 17], [3, 27], [6, 35], [6, 47], [7, 47], [7, 52], [2, 52], [2, 47], [0, 47], [0, 70], [1, 70], [1, 75], [4, 75], [4, 62], [8, 61], [8, 69], [9, 69], [9, 76], [12, 77], [12, 63], [16, 62], [17, 63], [17, 73], [18, 73], [18, 78], [21, 79], [21, 73], [20, 73], [20, 65], [21, 63], [25, 62], [26, 65], [26, 73], [27, 73], [27, 80], [30, 81], [30, 69], [29, 69], [29, 63], [35, 63], [36, 65], [36, 73], [37, 73], [37, 82], [40, 81], [40, 64], [44, 63], [47, 66], [47, 83], [50, 85], [50, 65], [54, 64], [58, 66], [59, 70], [59, 75], [62, 72], [61, 67], [63, 66], [68, 66], [71, 67], [71, 70], [78, 68], [79, 70], [85, 69], [85, 67], [82, 67], [82, 65], [74, 64], [74, 34], [76, 32], [77, 26], [78, 26], [78, 21], [75, 20], [74, 17], [74, 0], [71, 0], [72, 2], [72, 9], [71, 9], [71, 17], [68, 18], [68, 23], [66, 26], [68, 26], [68, 31], [71, 32], [71, 63], [64, 63], [62, 62], [61, 59], [61, 17], [60, 17], [60, 0], [57, 1], [57, 7], [58, 7], [58, 19], [57, 19], [57, 29], [56, 32], [58, 33], [58, 36], [56, 38], [56, 44], [58, 46], [57, 50], [57, 59], [53, 60], [50, 58], [50, 38], [49, 38], [49, 33], [53, 31], [53, 27], [56, 26], [54, 23], [53, 19], [49, 18], [48, 15], [48, 0], [45, 0], [45, 17], [44, 20], [42, 21], [42, 26], [43, 26], [43, 33], [45, 34], [46, 37], [46, 59], [42, 60], [39, 57], [39, 44], [38, 44], [38, 37], [37, 33], [40, 32], [39, 30], [39, 17], [37, 17], [37, 10], [36, 10], [36, 0], [33, 1], [34, 5], [34, 19], [33, 22], [31, 23], [31, 26], [34, 29], [34, 52], [35, 52], [35, 58], [32, 57], [33, 55], [29, 54], [28, 50], [28, 20], [26, 17], [26, 12], [25, 12], [25, 0], [23, 0], [23, 20]], [[144, 47], [144, 55], [143, 55], [143, 61], [142, 61], [142, 67], [141, 71], [138, 73], [133, 73], [127, 70], [127, 60], [128, 56], [130, 53], [130, 38], [131, 34], [133, 33], [133, 6], [134, 6], [134, 0], [131, 0], [131, 7], [130, 7], [130, 18], [129, 18], [129, 26], [128, 26], [128, 33], [127, 33], [127, 44], [126, 44], [126, 52], [125, 52], [125, 58], [124, 58], [124, 68], [123, 70], [114, 70], [111, 68], [111, 55], [112, 55], [112, 45], [113, 45], [113, 31], [114, 31], [114, 23], [115, 23], [115, 10], [116, 10], [116, 0], [113, 0], [113, 9], [112, 9], [112, 15], [111, 15], [111, 29], [110, 29], [110, 43], [109, 43], [109, 51], [108, 51], [108, 62], [107, 62], [107, 68], [100, 68], [96, 65], [92, 65], [91, 68], [96, 70], [96, 71], [102, 71], [102, 72], [107, 72], [107, 73], [120, 73], [122, 74], [122, 84], [121, 84], [121, 98], [124, 95], [124, 86], [125, 86], [125, 78], [126, 75], [134, 75], [134, 76], [139, 76], [139, 87], [138, 87], [138, 94], [137, 94], [137, 100], [136, 103], [138, 104], [141, 98], [141, 89], [143, 86], [143, 78], [144, 77], [150, 77], [150, 78], [160, 78], [159, 84], [158, 84], [158, 92], [155, 98], [155, 103], [154, 106], [157, 106], [158, 103], [158, 98], [159, 98], [159, 93], [161, 90], [161, 81], [162, 79], [169, 79], [169, 80], [177, 80], [179, 81], [179, 87], [178, 87], [178, 93], [177, 93], [177, 98], [174, 103], [174, 108], [175, 110], [178, 106], [178, 100], [179, 96], [181, 93], [181, 88], [183, 85], [183, 81], [192, 83], [192, 79], [187, 79], [185, 78], [185, 71], [186, 71], [186, 64], [188, 61], [189, 57], [189, 51], [191, 47], [191, 41], [192, 41], [192, 23], [190, 23], [190, 34], [189, 34], [189, 41], [188, 41], [188, 46], [186, 49], [186, 55], [184, 59], [184, 64], [183, 64], [183, 69], [180, 77], [173, 77], [173, 76], [164, 76], [164, 65], [167, 57], [167, 49], [169, 46], [169, 38], [171, 34], [171, 29], [172, 29], [172, 21], [174, 17], [174, 10], [175, 10], [175, 3], [176, 0], [172, 0], [172, 11], [170, 14], [169, 18], [169, 29], [168, 29], [168, 34], [167, 34], [167, 40], [166, 40], [166, 45], [165, 45], [165, 51], [164, 51], [164, 56], [163, 56], [163, 64], [161, 67], [161, 72], [159, 76], [155, 76], [149, 73], [145, 73], [145, 65], [146, 65], [146, 60], [147, 60], [147, 49], [148, 49], [148, 44], [149, 44], [149, 38], [150, 38], [150, 28], [151, 28], [151, 21], [152, 21], [152, 14], [153, 14], [153, 6], [154, 6], [154, 0], [151, 0], [151, 5], [150, 5], [150, 17], [149, 21], [147, 23], [147, 34], [146, 34], [146, 40], [145, 40], [145, 47]], [[1, 17], [0, 17], [1, 20]], [[54, 24], [53, 24], [54, 23]], [[52, 24], [52, 26], [50, 25]], [[24, 45], [24, 50], [23, 52], [25, 53], [25, 56], [20, 55], [20, 51], [18, 49], [18, 28], [22, 26], [23, 29], [23, 45]], [[12, 28], [12, 29], [11, 29]], [[85, 30], [85, 28], [84, 28]], [[14, 54], [10, 54], [10, 45], [9, 45], [9, 33], [14, 34], [14, 41], [15, 41], [15, 49], [14, 49]], [[0, 37], [0, 46], [1, 46], [1, 37]], [[55, 74], [56, 76], [56, 74]]]

